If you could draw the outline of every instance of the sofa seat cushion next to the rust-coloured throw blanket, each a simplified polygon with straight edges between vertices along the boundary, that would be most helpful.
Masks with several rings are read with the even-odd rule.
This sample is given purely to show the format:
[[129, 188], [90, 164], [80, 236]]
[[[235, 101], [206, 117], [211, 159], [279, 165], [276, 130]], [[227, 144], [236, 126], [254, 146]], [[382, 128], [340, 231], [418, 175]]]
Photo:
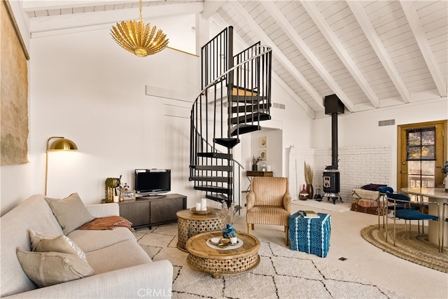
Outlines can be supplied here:
[[85, 253], [135, 239], [134, 234], [124, 227], [113, 230], [73, 230], [67, 237], [72, 239]]

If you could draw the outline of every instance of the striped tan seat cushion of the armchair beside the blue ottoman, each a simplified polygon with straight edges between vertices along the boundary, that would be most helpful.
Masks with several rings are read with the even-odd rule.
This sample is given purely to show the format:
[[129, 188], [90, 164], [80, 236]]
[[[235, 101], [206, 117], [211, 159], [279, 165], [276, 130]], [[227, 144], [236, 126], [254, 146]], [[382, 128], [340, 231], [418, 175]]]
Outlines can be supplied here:
[[246, 212], [247, 223], [288, 225], [290, 213], [279, 206], [255, 206]]

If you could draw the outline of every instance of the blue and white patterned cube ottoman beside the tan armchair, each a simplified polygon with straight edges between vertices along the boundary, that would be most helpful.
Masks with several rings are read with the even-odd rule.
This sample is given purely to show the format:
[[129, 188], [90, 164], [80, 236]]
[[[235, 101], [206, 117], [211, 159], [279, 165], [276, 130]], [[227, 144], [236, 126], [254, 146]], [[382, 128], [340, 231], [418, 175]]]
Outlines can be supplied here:
[[318, 218], [304, 218], [302, 211], [297, 211], [290, 216], [290, 249], [325, 258], [330, 248], [331, 216], [317, 214]]

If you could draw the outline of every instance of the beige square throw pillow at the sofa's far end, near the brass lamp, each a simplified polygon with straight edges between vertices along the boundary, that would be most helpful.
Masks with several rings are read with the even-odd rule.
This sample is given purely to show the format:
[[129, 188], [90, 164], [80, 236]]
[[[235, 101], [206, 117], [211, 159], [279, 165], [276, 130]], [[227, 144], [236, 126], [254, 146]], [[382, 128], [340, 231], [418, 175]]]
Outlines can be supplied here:
[[57, 222], [61, 225], [64, 235], [68, 235], [84, 223], [94, 219], [89, 211], [87, 211], [78, 193], [73, 193], [63, 200], [49, 197], [45, 197], [45, 200], [50, 205]]

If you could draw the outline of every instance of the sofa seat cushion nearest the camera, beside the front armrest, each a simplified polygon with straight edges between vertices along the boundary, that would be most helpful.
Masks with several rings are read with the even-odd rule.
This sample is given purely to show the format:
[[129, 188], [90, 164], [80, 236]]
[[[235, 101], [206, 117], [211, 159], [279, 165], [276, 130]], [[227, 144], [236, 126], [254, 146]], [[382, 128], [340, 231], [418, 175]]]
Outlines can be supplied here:
[[96, 274], [152, 262], [135, 238], [87, 252], [86, 256]]

